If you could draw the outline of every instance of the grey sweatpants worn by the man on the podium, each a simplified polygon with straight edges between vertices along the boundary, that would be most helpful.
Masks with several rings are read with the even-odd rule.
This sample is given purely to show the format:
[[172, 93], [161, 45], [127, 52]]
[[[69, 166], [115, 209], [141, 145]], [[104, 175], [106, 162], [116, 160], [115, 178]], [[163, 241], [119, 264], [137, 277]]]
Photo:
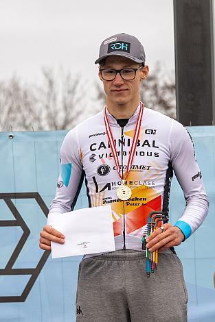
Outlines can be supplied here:
[[174, 253], [159, 253], [149, 278], [142, 251], [122, 249], [80, 262], [76, 322], [185, 322], [187, 302]]

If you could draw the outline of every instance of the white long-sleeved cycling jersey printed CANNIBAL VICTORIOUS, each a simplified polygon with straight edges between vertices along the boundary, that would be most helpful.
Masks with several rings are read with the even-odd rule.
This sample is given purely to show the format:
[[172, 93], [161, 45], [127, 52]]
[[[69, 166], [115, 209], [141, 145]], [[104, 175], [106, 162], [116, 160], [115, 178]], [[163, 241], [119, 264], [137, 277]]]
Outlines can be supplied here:
[[[124, 127], [108, 113], [120, 171], [126, 171], [139, 106]], [[111, 204], [115, 249], [142, 249], [142, 234], [152, 211], [166, 213], [173, 170], [183, 189], [186, 206], [175, 225], [188, 238], [201, 225], [208, 211], [208, 199], [194, 147], [181, 123], [144, 107], [141, 129], [126, 184], [132, 196], [117, 198], [122, 184], [106, 135], [103, 112], [80, 123], [65, 136], [60, 149], [61, 171], [56, 197], [49, 209], [69, 212], [78, 198], [85, 177], [89, 207]]]

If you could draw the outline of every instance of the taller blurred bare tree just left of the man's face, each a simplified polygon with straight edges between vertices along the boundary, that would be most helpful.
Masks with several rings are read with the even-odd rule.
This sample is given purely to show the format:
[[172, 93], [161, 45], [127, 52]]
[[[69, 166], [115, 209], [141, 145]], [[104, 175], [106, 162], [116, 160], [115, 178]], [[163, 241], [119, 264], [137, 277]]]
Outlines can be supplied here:
[[52, 69], [43, 68], [43, 86], [37, 88], [39, 110], [43, 128], [69, 129], [76, 125], [80, 111], [84, 110], [84, 93], [87, 84], [78, 76], [72, 77], [63, 69], [54, 75]]

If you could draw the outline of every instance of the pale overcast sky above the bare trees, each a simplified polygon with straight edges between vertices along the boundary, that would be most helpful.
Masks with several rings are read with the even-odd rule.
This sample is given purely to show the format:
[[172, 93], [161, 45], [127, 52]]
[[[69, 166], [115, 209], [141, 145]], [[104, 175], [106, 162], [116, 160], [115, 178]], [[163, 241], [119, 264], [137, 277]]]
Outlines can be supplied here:
[[[120, 32], [137, 36], [146, 62], [174, 69], [172, 0], [1, 0], [0, 79], [36, 81], [59, 65], [93, 79], [100, 43]], [[93, 78], [92, 78], [93, 77]]]

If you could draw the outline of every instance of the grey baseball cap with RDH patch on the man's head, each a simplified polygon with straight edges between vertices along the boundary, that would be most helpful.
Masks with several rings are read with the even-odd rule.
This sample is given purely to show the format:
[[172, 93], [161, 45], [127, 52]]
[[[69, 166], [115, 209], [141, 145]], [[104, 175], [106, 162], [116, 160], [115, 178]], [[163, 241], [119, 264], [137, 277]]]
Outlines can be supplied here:
[[95, 64], [112, 55], [123, 56], [144, 64], [146, 60], [142, 43], [136, 37], [124, 33], [113, 35], [102, 41], [99, 58], [95, 60]]

